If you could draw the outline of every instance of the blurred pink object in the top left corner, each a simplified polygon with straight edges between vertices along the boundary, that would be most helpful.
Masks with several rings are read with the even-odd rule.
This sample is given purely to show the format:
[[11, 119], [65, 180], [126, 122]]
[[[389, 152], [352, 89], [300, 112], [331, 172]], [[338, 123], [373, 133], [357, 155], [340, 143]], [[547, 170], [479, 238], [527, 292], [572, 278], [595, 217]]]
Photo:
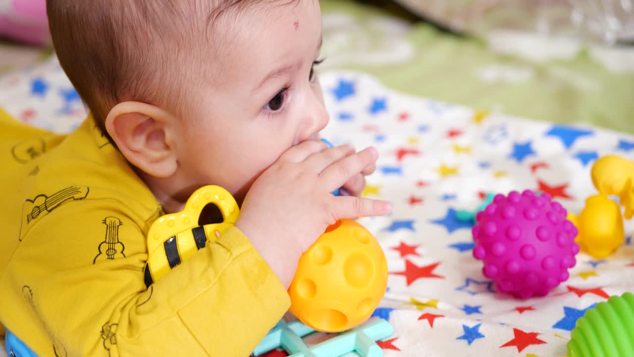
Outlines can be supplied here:
[[0, 0], [0, 37], [35, 45], [49, 44], [46, 0]]

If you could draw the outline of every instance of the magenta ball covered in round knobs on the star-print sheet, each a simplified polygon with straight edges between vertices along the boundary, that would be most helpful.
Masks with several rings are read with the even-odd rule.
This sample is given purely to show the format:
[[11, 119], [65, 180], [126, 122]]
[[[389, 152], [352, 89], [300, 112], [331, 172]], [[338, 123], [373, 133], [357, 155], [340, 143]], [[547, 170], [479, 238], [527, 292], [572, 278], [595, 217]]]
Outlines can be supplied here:
[[498, 194], [475, 217], [474, 257], [500, 292], [527, 299], [545, 296], [568, 280], [579, 245], [566, 209], [548, 194]]

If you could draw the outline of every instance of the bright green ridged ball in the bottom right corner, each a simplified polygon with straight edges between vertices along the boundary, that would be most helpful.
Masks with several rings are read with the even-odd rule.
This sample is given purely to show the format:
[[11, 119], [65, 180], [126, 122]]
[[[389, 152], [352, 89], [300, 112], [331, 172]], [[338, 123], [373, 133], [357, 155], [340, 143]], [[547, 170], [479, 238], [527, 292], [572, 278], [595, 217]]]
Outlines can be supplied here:
[[634, 294], [613, 296], [586, 311], [567, 347], [569, 357], [634, 356]]

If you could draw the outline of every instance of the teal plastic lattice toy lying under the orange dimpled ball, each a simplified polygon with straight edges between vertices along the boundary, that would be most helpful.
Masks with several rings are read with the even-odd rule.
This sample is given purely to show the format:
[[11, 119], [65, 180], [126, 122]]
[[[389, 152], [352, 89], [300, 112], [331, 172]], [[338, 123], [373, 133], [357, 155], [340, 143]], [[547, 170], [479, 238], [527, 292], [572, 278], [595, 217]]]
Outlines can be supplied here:
[[315, 330], [299, 321], [289, 323], [280, 321], [260, 342], [253, 355], [257, 357], [273, 349], [282, 348], [290, 354], [290, 357], [335, 357], [352, 352], [356, 352], [361, 357], [382, 357], [383, 350], [375, 341], [390, 337], [392, 330], [392, 325], [380, 319], [308, 347], [302, 337]]

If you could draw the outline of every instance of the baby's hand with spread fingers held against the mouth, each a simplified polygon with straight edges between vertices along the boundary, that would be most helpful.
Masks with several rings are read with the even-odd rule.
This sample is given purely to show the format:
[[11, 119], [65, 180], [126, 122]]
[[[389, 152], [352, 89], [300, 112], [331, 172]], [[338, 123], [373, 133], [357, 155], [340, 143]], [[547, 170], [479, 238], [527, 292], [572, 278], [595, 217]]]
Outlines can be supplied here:
[[[299, 257], [328, 226], [340, 219], [391, 212], [391, 204], [385, 201], [331, 193], [356, 176], [363, 179], [363, 172], [372, 171], [377, 158], [374, 148], [360, 152], [349, 145], [329, 149], [323, 142], [311, 140], [288, 149], [254, 182], [236, 227], [287, 288]], [[354, 184], [359, 187], [358, 182]]]

